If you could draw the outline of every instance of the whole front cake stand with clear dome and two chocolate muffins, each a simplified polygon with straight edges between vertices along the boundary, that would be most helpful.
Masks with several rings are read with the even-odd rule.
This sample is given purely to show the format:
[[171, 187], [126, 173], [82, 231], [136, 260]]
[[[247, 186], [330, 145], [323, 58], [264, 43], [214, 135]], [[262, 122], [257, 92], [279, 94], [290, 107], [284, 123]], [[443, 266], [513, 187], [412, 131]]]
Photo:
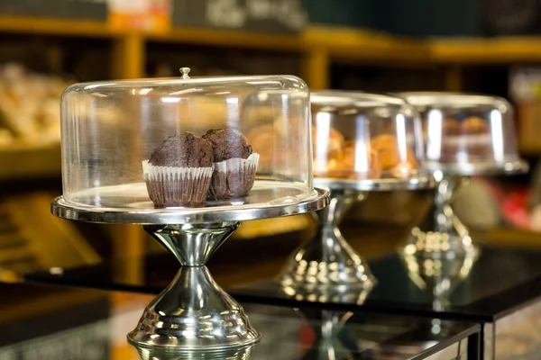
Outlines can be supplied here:
[[[142, 224], [178, 258], [178, 275], [147, 307], [131, 343], [248, 346], [259, 334], [205, 264], [240, 221], [328, 203], [328, 193], [313, 187], [309, 92], [295, 76], [190, 78], [188, 68], [181, 71], [179, 78], [69, 86], [61, 99], [63, 195], [51, 211]], [[246, 100], [261, 94], [290, 135], [267, 129], [274, 144], [267, 165], [244, 137], [257, 123], [242, 114]], [[284, 149], [295, 166], [281, 161]]]

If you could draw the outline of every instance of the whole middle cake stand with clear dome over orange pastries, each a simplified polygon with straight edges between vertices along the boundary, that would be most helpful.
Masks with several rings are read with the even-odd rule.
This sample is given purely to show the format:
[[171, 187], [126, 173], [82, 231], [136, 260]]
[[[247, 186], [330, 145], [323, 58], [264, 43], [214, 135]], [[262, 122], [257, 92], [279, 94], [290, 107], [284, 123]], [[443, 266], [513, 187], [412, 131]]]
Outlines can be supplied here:
[[[423, 167], [418, 113], [403, 99], [328, 90], [312, 92], [310, 101], [314, 184], [329, 189], [331, 199], [326, 209], [316, 212], [314, 237], [289, 257], [278, 281], [289, 294], [342, 298], [336, 294], [364, 292], [375, 284], [364, 259], [337, 228], [346, 211], [366, 192], [424, 188], [432, 186], [433, 179]], [[264, 107], [264, 98], [254, 98], [244, 112], [261, 127], [280, 122], [280, 116], [254, 111]], [[268, 147], [263, 141], [253, 143], [258, 152]]]

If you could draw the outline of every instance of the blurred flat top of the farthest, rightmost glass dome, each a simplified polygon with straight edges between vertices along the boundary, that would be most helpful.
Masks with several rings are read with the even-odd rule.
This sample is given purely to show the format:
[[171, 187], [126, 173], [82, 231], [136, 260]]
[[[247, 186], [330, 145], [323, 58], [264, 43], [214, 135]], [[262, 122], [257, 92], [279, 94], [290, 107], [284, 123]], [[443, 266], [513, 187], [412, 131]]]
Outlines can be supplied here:
[[[500, 96], [476, 93], [454, 93], [454, 92], [430, 92], [430, 91], [410, 91], [396, 93], [403, 97], [408, 103], [414, 106], [507, 106], [509, 102]], [[460, 103], [457, 103], [460, 102]]]

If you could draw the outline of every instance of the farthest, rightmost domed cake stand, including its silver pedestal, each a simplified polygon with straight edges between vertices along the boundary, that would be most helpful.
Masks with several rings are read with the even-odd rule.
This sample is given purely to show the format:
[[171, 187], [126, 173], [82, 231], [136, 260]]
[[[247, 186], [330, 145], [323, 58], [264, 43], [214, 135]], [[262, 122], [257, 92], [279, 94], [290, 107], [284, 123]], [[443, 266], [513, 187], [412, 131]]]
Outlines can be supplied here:
[[518, 155], [513, 107], [499, 97], [475, 94], [403, 93], [417, 107], [426, 142], [426, 168], [435, 175], [434, 204], [412, 229], [403, 251], [418, 257], [475, 257], [469, 230], [451, 202], [471, 175], [527, 171]]

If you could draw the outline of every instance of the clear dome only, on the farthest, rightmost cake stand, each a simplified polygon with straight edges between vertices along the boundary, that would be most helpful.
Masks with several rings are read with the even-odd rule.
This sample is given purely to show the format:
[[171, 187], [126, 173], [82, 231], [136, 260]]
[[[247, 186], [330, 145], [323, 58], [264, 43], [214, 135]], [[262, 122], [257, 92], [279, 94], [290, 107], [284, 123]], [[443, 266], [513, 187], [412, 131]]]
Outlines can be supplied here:
[[481, 94], [402, 93], [421, 114], [426, 167], [445, 173], [519, 172], [513, 107]]

